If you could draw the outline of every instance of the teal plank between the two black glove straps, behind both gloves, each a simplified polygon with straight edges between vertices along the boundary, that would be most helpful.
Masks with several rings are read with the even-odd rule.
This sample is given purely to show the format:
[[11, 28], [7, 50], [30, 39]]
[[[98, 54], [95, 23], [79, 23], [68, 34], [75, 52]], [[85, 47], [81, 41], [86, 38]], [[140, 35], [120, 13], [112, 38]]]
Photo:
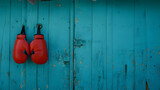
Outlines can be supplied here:
[[[38, 3], [31, 5], [27, 3], [27, 41], [31, 43], [34, 40], [34, 34], [37, 31]], [[26, 62], [26, 90], [37, 90], [37, 65], [33, 63], [31, 57]]]

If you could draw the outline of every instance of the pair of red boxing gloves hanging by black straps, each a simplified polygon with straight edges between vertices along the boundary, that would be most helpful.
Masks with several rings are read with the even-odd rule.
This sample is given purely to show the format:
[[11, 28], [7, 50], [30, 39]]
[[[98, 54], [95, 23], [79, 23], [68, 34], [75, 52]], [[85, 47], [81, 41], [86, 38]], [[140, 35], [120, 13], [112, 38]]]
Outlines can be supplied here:
[[30, 54], [32, 61], [36, 64], [45, 64], [47, 62], [47, 45], [44, 40], [44, 35], [40, 34], [40, 29], [41, 25], [38, 25], [37, 34], [34, 35], [34, 40], [29, 45], [25, 40], [25, 26], [23, 26], [21, 34], [17, 35], [13, 50], [13, 59], [16, 63], [25, 63]]

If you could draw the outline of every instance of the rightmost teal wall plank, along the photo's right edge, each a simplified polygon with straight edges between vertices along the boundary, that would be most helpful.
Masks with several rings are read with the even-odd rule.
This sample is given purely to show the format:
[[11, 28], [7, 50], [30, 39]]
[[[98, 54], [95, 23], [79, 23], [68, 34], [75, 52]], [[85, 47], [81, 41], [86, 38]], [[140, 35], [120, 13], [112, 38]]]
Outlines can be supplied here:
[[[146, 2], [147, 63], [146, 82], [150, 90], [159, 90], [160, 86], [160, 1]], [[147, 87], [146, 87], [147, 88]]]

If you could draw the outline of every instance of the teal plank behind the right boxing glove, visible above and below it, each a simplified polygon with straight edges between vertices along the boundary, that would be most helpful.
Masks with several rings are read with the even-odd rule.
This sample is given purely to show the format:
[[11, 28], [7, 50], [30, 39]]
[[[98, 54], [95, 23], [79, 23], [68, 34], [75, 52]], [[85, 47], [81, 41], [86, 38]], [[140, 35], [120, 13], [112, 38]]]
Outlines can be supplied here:
[[[38, 8], [38, 23], [42, 24], [41, 34], [44, 35], [44, 39], [47, 43], [48, 48], [48, 33], [49, 33], [49, 2], [39, 2], [39, 8]], [[48, 89], [48, 68], [49, 63], [47, 62], [44, 65], [38, 65], [38, 71], [37, 71], [37, 84], [38, 89], [47, 90]]]

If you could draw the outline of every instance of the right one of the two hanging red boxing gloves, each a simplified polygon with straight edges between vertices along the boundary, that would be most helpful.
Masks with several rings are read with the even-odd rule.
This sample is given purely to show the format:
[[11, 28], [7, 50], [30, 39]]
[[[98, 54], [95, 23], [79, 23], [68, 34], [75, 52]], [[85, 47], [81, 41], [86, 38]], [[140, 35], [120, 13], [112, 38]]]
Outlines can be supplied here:
[[36, 64], [45, 64], [48, 60], [48, 52], [44, 35], [40, 34], [40, 26], [38, 26], [37, 34], [34, 35], [35, 40], [30, 44], [31, 59]]

